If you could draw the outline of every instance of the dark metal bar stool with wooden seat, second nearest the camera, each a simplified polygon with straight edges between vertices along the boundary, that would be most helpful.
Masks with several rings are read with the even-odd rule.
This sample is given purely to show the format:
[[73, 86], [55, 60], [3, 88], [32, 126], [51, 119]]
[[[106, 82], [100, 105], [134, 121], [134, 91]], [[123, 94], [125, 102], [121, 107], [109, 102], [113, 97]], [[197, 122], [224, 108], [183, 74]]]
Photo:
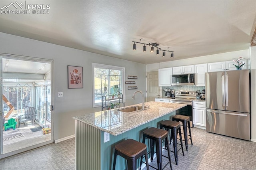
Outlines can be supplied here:
[[[150, 139], [150, 158], [151, 162], [153, 161], [153, 156], [154, 156], [154, 145], [156, 143], [156, 158], [157, 158], [157, 168], [151, 166], [154, 169], [157, 170], [162, 170], [162, 140], [165, 140], [166, 143], [169, 143], [168, 141], [168, 132], [166, 130], [162, 130], [159, 128], [148, 128], [143, 131], [143, 141], [142, 143], [145, 143], [146, 138]], [[172, 162], [171, 162], [171, 156], [170, 156], [170, 148], [169, 145], [167, 145], [167, 152], [168, 152], [168, 157], [170, 163], [170, 168], [172, 170]], [[168, 165], [168, 163], [164, 166], [164, 168]], [[141, 168], [142, 160], [140, 162], [140, 168]], [[150, 165], [149, 165], [150, 166]]]

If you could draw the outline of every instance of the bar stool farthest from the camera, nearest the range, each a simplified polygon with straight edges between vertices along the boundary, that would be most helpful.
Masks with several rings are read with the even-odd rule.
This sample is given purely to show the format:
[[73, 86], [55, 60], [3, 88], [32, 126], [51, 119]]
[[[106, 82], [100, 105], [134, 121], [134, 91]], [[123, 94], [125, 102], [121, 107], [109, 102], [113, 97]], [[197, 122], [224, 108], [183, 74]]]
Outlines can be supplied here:
[[[186, 146], [186, 150], [188, 151], [188, 140], [190, 139], [191, 144], [192, 143], [192, 136], [191, 136], [191, 130], [190, 130], [190, 120], [189, 120], [189, 116], [184, 116], [184, 115], [174, 115], [172, 117], [172, 121], [178, 121], [178, 122], [182, 122], [182, 126], [183, 126], [183, 132], [184, 132], [184, 140], [185, 140], [185, 146]], [[188, 127], [188, 130], [187, 130]], [[189, 131], [189, 134], [188, 134]], [[188, 136], [190, 136], [188, 138]]]

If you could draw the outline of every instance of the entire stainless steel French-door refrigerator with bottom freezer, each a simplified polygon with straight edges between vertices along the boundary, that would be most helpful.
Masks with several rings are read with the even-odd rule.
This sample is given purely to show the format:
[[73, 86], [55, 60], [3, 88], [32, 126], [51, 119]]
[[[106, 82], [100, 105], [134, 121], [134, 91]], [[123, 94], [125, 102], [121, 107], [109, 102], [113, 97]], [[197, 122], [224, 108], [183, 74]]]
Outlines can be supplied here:
[[206, 131], [250, 140], [249, 70], [206, 73]]

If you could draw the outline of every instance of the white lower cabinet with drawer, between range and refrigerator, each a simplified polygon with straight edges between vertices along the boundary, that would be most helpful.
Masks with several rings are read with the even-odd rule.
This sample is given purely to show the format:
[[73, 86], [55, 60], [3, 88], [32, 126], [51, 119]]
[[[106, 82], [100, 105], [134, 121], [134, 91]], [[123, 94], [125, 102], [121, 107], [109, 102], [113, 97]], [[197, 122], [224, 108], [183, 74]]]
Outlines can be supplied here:
[[205, 102], [193, 101], [193, 125], [194, 127], [206, 127]]

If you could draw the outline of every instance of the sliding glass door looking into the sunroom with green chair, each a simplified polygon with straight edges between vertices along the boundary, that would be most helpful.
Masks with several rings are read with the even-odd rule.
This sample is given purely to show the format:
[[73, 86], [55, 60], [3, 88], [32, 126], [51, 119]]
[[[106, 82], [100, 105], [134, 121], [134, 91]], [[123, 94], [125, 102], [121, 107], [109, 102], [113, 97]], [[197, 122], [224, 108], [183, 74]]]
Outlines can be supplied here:
[[0, 158], [53, 142], [53, 61], [0, 55]]

